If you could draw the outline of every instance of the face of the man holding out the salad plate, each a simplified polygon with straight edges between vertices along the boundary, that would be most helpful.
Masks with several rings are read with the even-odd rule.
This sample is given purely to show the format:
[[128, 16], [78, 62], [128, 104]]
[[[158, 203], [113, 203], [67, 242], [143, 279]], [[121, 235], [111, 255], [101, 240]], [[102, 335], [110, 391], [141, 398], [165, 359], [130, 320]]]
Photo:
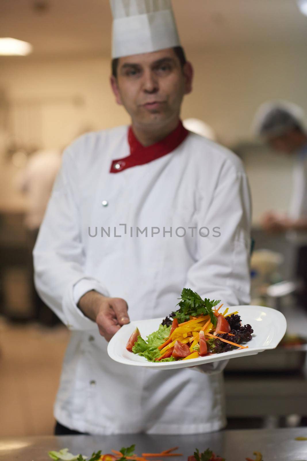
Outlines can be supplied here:
[[183, 95], [192, 90], [193, 69], [173, 48], [119, 58], [111, 85], [132, 123], [157, 128], [179, 118]]

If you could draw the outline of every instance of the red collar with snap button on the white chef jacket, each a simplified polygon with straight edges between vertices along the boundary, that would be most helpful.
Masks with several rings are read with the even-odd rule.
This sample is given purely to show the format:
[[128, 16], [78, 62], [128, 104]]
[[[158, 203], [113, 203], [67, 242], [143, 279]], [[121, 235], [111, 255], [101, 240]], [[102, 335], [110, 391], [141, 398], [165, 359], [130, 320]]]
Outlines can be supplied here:
[[182, 141], [188, 136], [188, 130], [184, 128], [180, 121], [177, 128], [166, 136], [162, 141], [156, 142], [151, 146], [143, 146], [137, 139], [131, 126], [128, 130], [128, 143], [130, 146], [130, 155], [125, 158], [113, 160], [111, 163], [110, 173], [119, 173], [127, 168], [136, 165], [144, 165], [152, 160], [159, 159], [166, 154], [175, 150]]

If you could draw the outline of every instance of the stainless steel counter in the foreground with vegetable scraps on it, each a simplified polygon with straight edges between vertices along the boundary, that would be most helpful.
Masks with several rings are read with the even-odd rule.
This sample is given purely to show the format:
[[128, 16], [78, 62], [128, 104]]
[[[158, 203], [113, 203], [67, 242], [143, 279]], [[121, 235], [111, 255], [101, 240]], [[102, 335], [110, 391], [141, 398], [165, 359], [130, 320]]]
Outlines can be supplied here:
[[114, 436], [65, 436], [65, 437], [27, 437], [0, 439], [0, 460], [2, 461], [46, 461], [49, 450], [68, 448], [71, 453], [91, 455], [99, 449], [109, 453], [136, 444], [136, 453], [159, 452], [179, 446], [187, 461], [195, 448], [203, 451], [210, 448], [224, 456], [226, 461], [244, 461], [253, 458], [254, 451], [260, 451], [264, 461], [302, 461], [307, 460], [307, 441], [296, 441], [295, 437], [307, 437], [307, 428], [220, 431], [211, 434], [187, 436], [157, 436], [129, 434]]

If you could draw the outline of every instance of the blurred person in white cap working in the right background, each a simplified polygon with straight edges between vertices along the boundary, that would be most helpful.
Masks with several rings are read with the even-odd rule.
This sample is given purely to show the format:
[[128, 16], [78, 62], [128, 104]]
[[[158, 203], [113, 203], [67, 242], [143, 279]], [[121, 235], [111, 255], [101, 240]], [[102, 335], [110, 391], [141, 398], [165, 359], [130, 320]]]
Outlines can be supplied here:
[[304, 283], [301, 304], [307, 308], [307, 127], [304, 111], [288, 101], [264, 103], [257, 111], [256, 134], [279, 154], [293, 157], [292, 194], [287, 214], [262, 217], [268, 232], [286, 232], [296, 246], [296, 276]]

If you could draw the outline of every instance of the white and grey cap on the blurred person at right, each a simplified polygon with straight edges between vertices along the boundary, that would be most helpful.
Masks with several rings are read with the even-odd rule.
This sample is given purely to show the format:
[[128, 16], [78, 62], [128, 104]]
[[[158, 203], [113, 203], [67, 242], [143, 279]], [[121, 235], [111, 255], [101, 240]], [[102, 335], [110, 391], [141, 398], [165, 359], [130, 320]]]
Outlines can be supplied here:
[[252, 128], [256, 136], [269, 138], [297, 126], [302, 130], [307, 128], [303, 109], [292, 102], [276, 100], [267, 101], [259, 107]]

